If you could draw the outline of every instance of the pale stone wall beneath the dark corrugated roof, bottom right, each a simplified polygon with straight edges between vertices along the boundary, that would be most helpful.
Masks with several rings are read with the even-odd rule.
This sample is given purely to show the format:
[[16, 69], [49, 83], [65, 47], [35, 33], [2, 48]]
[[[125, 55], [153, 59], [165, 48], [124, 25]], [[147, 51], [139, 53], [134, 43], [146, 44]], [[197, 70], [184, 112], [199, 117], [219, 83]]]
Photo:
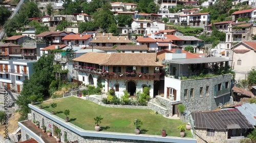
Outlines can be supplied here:
[[[218, 142], [218, 143], [226, 143], [227, 140], [227, 132], [224, 130], [219, 130], [214, 132], [214, 136], [206, 136], [206, 130], [196, 130], [196, 133], [199, 134], [203, 139], [210, 142]], [[205, 143], [200, 137], [197, 137], [197, 143]]]

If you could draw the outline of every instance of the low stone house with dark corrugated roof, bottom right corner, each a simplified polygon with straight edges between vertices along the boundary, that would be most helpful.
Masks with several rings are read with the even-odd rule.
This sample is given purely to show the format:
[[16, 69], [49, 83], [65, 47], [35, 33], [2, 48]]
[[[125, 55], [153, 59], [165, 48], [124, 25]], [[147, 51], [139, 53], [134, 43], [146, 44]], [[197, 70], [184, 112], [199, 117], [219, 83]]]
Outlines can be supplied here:
[[254, 129], [237, 108], [192, 112], [191, 116], [193, 121], [190, 124], [193, 124], [196, 132], [200, 134], [200, 137], [197, 136], [198, 143], [240, 142], [240, 139], [245, 138]]

